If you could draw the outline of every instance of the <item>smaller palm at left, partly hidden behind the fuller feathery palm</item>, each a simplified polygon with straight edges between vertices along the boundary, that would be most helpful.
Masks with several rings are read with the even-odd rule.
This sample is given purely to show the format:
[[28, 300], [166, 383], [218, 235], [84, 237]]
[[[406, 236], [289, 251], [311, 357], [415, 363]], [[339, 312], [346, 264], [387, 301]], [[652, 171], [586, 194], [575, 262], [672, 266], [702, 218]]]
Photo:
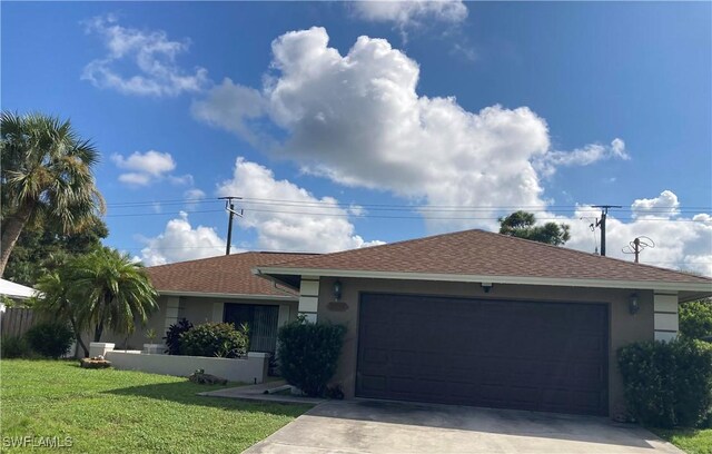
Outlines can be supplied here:
[[38, 282], [36, 288], [40, 290], [40, 296], [36, 297], [32, 308], [39, 314], [52, 317], [57, 320], [67, 320], [75, 333], [77, 344], [81, 346], [85, 356], [89, 356], [89, 348], [81, 338], [86, 323], [81, 319], [78, 305], [70, 296], [71, 278], [69, 266], [59, 268], [57, 272], [46, 274]]

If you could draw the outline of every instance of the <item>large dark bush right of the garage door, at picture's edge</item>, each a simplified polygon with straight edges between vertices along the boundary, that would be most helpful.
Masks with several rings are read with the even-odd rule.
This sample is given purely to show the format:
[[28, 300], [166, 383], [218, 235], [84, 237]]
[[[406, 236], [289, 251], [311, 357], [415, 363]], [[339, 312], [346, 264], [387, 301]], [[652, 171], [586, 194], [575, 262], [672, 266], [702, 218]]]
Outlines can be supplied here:
[[712, 345], [693, 339], [621, 347], [627, 409], [647, 426], [700, 426], [712, 413]]

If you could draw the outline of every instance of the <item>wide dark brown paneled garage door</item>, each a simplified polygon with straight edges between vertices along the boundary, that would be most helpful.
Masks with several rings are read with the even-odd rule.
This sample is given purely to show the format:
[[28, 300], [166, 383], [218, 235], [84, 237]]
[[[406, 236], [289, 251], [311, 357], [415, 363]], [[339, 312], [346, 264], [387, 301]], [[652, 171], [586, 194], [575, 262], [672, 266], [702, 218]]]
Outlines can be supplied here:
[[364, 294], [356, 394], [607, 414], [607, 307]]

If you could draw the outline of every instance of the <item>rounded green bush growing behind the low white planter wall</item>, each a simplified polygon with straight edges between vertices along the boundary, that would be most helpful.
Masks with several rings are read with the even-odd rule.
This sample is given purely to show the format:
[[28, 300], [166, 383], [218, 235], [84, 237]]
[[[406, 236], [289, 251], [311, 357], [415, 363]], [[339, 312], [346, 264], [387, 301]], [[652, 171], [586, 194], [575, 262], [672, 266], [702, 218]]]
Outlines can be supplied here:
[[245, 327], [231, 323], [206, 323], [180, 335], [180, 354], [237, 358], [247, 354], [249, 337]]

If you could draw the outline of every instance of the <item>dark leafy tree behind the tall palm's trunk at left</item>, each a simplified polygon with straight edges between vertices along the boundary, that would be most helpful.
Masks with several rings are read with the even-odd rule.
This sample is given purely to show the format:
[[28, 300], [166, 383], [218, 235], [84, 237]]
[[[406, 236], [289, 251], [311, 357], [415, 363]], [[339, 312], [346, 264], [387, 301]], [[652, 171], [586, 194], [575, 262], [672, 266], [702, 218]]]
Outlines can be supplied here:
[[79, 233], [65, 234], [61, 226], [39, 220], [22, 230], [4, 269], [4, 277], [33, 287], [46, 274], [55, 273], [71, 257], [87, 254], [109, 235], [97, 216]]

